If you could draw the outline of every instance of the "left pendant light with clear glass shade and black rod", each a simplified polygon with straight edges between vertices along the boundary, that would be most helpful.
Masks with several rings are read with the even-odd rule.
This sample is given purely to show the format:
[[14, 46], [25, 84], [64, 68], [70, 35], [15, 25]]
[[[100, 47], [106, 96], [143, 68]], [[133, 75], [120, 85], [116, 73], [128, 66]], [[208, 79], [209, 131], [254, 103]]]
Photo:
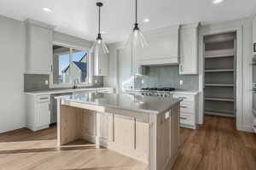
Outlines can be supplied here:
[[101, 35], [101, 7], [103, 6], [103, 3], [96, 3], [96, 6], [99, 7], [99, 32], [98, 36], [96, 37], [96, 41], [93, 42], [93, 45], [90, 48], [90, 53], [96, 52], [98, 54], [99, 52], [103, 52], [104, 54], [107, 54], [108, 47], [106, 43], [103, 42]]

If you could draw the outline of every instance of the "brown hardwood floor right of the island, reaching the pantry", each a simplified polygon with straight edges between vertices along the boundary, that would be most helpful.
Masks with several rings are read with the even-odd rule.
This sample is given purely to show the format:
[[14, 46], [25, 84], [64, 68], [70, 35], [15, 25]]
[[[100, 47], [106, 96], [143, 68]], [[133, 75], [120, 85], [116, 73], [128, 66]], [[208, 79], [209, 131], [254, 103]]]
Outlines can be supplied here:
[[181, 130], [181, 141], [175, 170], [256, 169], [256, 135], [236, 131], [232, 118], [205, 116], [197, 130]]

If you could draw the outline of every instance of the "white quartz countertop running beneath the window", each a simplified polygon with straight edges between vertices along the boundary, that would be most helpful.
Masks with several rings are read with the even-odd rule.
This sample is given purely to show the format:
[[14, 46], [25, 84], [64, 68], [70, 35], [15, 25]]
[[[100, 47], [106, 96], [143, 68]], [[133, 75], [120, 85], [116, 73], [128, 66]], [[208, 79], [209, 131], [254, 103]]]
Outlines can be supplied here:
[[44, 94], [62, 94], [62, 93], [74, 93], [74, 92], [84, 92], [93, 90], [113, 90], [113, 88], [76, 88], [76, 89], [54, 89], [54, 90], [44, 90], [44, 91], [34, 91], [25, 92], [25, 94], [32, 95], [44, 95]]

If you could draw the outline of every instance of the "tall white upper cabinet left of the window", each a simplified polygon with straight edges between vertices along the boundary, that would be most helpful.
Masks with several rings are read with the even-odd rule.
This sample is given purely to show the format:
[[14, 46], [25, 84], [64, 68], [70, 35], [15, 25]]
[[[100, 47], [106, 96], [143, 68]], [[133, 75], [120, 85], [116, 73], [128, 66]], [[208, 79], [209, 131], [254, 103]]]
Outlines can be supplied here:
[[49, 74], [52, 57], [52, 30], [35, 20], [26, 20], [26, 73]]

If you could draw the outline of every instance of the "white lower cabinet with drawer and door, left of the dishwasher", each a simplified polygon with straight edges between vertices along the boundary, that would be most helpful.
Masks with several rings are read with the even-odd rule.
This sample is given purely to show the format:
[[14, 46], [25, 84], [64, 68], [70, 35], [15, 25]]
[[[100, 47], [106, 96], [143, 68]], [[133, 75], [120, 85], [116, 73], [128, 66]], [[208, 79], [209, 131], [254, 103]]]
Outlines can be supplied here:
[[38, 131], [49, 127], [50, 95], [26, 94], [26, 127]]

